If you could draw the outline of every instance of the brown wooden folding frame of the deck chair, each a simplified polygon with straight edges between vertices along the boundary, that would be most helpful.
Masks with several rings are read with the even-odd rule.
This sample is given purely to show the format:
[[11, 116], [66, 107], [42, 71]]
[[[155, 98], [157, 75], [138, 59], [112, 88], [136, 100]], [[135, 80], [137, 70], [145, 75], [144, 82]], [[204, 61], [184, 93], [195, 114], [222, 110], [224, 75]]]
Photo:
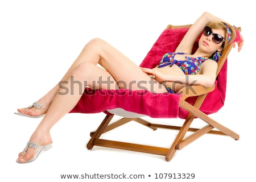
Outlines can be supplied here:
[[[185, 25], [185, 26], [168, 25], [167, 28], [185, 28], [190, 26], [191, 25]], [[238, 27], [237, 30], [240, 32], [241, 28]], [[218, 61], [216, 77], [220, 72], [222, 65], [225, 63], [226, 58], [228, 57], [228, 54], [233, 47], [233, 44], [234, 43], [229, 44], [228, 47], [226, 47], [224, 52], [222, 53], [221, 59]], [[191, 90], [196, 90], [196, 92], [192, 92]], [[201, 136], [207, 133], [227, 135], [229, 137], [232, 137], [233, 139], [238, 140], [240, 136], [237, 133], [234, 133], [234, 131], [214, 121], [207, 114], [204, 114], [202, 111], [199, 110], [200, 106], [204, 102], [205, 97], [212, 90], [214, 90], [214, 85], [209, 88], [201, 85], [185, 86], [183, 89], [180, 90], [179, 93], [182, 93], [182, 97], [179, 102], [179, 107], [182, 107], [183, 109], [189, 111], [189, 115], [185, 119], [185, 122], [183, 123], [182, 126], [159, 125], [156, 123], [150, 123], [142, 118], [122, 118], [114, 123], [109, 124], [110, 121], [112, 121], [112, 118], [114, 117], [114, 115], [107, 114], [105, 119], [102, 121], [101, 125], [98, 127], [98, 129], [90, 133], [91, 138], [86, 147], [88, 149], [92, 149], [93, 146], [103, 146], [103, 147], [110, 147], [110, 148], [118, 148], [122, 150], [144, 152], [148, 154], [163, 155], [165, 156], [166, 161], [170, 161], [173, 158], [176, 150], [181, 150], [182, 148], [187, 146], [189, 143], [192, 143], [193, 141], [195, 141], [196, 139], [200, 138]], [[193, 97], [193, 96], [198, 96], [194, 105], [191, 105], [185, 101], [186, 98]], [[191, 123], [195, 117], [202, 119], [204, 122], [207, 123], [207, 125], [201, 129], [191, 128], [190, 127]], [[113, 130], [130, 121], [141, 123], [142, 125], [150, 127], [153, 130], [156, 130], [158, 128], [175, 129], [175, 130], [179, 130], [179, 133], [177, 134], [176, 138], [172, 142], [170, 148], [146, 146], [143, 144], [134, 144], [134, 143], [118, 142], [114, 140], [100, 139], [101, 134], [106, 133], [107, 131]], [[213, 129], [217, 129], [217, 130], [213, 130]], [[192, 134], [190, 134], [188, 137], [185, 137], [185, 134], [187, 134], [188, 131], [192, 131]]]

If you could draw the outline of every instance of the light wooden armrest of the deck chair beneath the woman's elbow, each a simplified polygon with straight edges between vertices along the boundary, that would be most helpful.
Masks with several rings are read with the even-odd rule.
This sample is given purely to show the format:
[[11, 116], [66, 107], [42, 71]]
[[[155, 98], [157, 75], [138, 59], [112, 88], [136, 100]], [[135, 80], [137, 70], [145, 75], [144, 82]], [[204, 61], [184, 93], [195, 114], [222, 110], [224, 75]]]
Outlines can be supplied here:
[[185, 100], [188, 97], [193, 96], [200, 96], [205, 93], [212, 92], [215, 88], [215, 85], [213, 84], [210, 87], [202, 86], [202, 85], [192, 85], [192, 86], [185, 86], [184, 88], [180, 89], [179, 94], [182, 94], [181, 99]]

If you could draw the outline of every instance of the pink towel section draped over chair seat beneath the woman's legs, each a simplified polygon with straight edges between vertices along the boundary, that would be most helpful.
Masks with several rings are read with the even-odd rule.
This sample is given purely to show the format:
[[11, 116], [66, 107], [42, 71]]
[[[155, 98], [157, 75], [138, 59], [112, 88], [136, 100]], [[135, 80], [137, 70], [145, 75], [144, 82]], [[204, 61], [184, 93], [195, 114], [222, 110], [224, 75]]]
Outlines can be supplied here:
[[122, 108], [152, 118], [177, 118], [181, 95], [151, 93], [147, 90], [91, 90], [83, 96], [71, 113], [99, 113]]

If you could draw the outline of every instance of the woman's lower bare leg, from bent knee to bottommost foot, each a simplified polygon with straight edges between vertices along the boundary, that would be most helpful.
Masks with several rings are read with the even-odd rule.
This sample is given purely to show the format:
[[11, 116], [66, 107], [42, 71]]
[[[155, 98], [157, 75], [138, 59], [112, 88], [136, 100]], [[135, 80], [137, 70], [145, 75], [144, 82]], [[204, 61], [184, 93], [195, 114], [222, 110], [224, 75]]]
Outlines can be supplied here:
[[[86, 69], [84, 69], [86, 67]], [[84, 71], [87, 71], [85, 74]], [[93, 73], [92, 73], [93, 72]], [[98, 79], [98, 75], [101, 76], [103, 80], [110, 80], [110, 88], [109, 89], [115, 89], [117, 87], [114, 78], [106, 72], [104, 69], [101, 69], [100, 67], [97, 67], [94, 64], [90, 63], [84, 63], [81, 64], [79, 68], [74, 69], [74, 72], [69, 77], [68, 80], [65, 80], [68, 82], [65, 86], [65, 89], [59, 89], [60, 94], [56, 94], [55, 98], [52, 101], [52, 104], [49, 106], [49, 109], [43, 118], [43, 120], [39, 123], [38, 127], [32, 134], [30, 141], [38, 143], [42, 146], [51, 143], [51, 135], [50, 130], [53, 125], [57, 121], [59, 121], [60, 118], [62, 118], [65, 114], [67, 114], [78, 102], [78, 100], [81, 97], [81, 89], [84, 88], [84, 79], [86, 78], [88, 81], [88, 85], [91, 86], [94, 89], [105, 89], [108, 88], [109, 85], [107, 84], [94, 84], [94, 80]], [[92, 75], [97, 75], [93, 77]], [[71, 84], [71, 80], [75, 80], [76, 83], [79, 82], [80, 84]], [[61, 94], [68, 90], [72, 90], [71, 92], [67, 94]], [[60, 105], [62, 104], [62, 105]], [[24, 155], [23, 152], [20, 152], [18, 161], [19, 162], [26, 162], [28, 159], [32, 158], [34, 156], [35, 149], [28, 148], [26, 154]]]

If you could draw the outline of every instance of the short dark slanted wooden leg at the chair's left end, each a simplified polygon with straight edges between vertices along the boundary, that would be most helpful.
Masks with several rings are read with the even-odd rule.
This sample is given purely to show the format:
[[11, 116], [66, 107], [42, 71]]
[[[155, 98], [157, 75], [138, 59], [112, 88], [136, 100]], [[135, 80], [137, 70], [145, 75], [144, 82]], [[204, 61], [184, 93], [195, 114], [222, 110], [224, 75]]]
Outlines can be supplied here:
[[98, 127], [98, 129], [94, 132], [92, 138], [90, 138], [89, 142], [87, 143], [87, 148], [92, 149], [94, 146], [94, 140], [100, 138], [101, 134], [104, 133], [104, 130], [108, 126], [111, 119], [114, 117], [114, 115], [106, 115], [105, 119], [101, 122], [101, 125]]

